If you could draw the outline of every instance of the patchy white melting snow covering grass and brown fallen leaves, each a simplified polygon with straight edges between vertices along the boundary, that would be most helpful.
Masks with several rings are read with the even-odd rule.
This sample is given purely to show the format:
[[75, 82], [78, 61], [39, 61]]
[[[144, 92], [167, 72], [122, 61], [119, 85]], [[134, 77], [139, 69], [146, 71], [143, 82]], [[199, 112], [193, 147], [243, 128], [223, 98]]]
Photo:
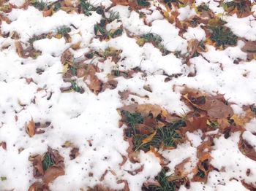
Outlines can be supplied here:
[[[18, 7], [24, 3], [22, 0], [9, 2]], [[209, 8], [216, 14], [224, 12], [216, 1], [197, 0], [195, 5], [203, 2], [209, 4]], [[111, 3], [108, 0], [93, 2], [94, 5], [102, 4], [105, 8], [110, 7]], [[254, 14], [255, 10], [254, 5]], [[181, 90], [185, 86], [213, 95], [224, 94], [236, 114], [245, 114], [242, 106], [256, 103], [256, 61], [246, 60], [246, 52], [241, 50], [244, 47], [243, 40], [239, 39], [236, 46], [225, 50], [206, 45], [206, 52], [189, 59], [189, 65], [176, 53], [187, 55], [189, 40], [206, 40], [206, 32], [201, 28], [203, 24], [194, 28], [189, 26], [183, 36], [180, 36], [180, 29], [175, 23], [168, 22], [155, 6], [140, 9], [140, 12], [145, 13], [145, 18], [127, 6], [111, 7], [106, 12], [106, 17], [111, 11], [118, 12], [120, 18], [108, 23], [106, 29], [109, 31], [122, 26], [125, 30], [121, 36], [102, 41], [94, 34], [94, 25], [102, 18], [96, 12], [86, 16], [59, 10], [51, 16], [43, 17], [42, 12], [29, 6], [27, 9], [15, 8], [3, 13], [11, 23], [1, 21], [0, 143], [6, 142], [7, 149], [0, 146], [0, 177], [7, 177], [7, 180], [0, 180], [0, 190], [28, 190], [38, 180], [33, 176], [29, 156], [42, 155], [48, 147], [57, 149], [64, 157], [65, 164], [65, 174], [49, 184], [50, 190], [87, 190], [98, 184], [113, 190], [123, 190], [123, 180], [127, 181], [130, 190], [141, 190], [143, 183], [159, 174], [162, 164], [160, 165], [161, 161], [153, 152], [142, 150], [136, 153], [138, 163], [129, 160], [129, 143], [124, 140], [124, 126], [120, 127], [121, 117], [116, 109], [133, 103], [157, 104], [167, 112], [183, 116], [190, 111], [181, 100]], [[178, 12], [178, 19], [182, 22], [197, 15], [189, 5], [178, 8]], [[225, 26], [238, 37], [256, 40], [256, 21], [252, 15], [244, 18], [224, 15], [223, 19], [227, 22]], [[71, 28], [70, 42], [63, 36], [55, 36], [57, 28], [61, 26]], [[14, 32], [18, 34], [18, 39], [7, 35]], [[159, 35], [162, 46], [170, 53], [163, 55], [159, 48], [149, 42], [139, 46], [136, 42], [138, 37], [148, 33]], [[50, 36], [32, 44], [42, 54], [37, 58], [20, 58], [15, 42], [20, 42], [23, 49], [26, 49], [29, 39], [40, 34]], [[78, 42], [79, 49], [72, 50], [72, 44]], [[72, 52], [75, 60], [82, 60], [86, 52], [104, 51], [108, 47], [121, 50], [117, 63], [111, 61], [111, 57], [102, 61], [97, 56], [93, 59], [86, 58], [85, 61], [98, 66], [96, 76], [103, 82], [110, 79], [113, 69], [127, 71], [139, 67], [141, 71], [128, 79], [116, 77], [116, 88], [107, 89], [98, 95], [89, 90], [82, 78], [76, 77], [74, 80], [85, 92], [61, 92], [61, 87], [70, 85], [62, 77], [64, 66], [61, 55], [65, 50]], [[237, 64], [237, 60], [240, 63]], [[37, 72], [38, 69], [42, 70], [42, 74]], [[195, 76], [189, 77], [193, 72], [196, 73]], [[170, 80], [166, 80], [167, 77]], [[33, 82], [28, 82], [30, 78]], [[145, 90], [145, 85], [151, 91]], [[121, 100], [118, 93], [124, 90], [133, 94], [126, 100]], [[45, 133], [29, 137], [24, 127], [30, 120], [50, 122], [50, 126], [45, 128]], [[256, 185], [255, 161], [238, 149], [241, 137], [256, 150], [255, 125], [256, 119], [253, 118], [245, 124], [244, 132], [231, 133], [228, 138], [221, 135], [218, 129], [206, 133], [201, 130], [187, 132], [187, 140], [178, 144], [176, 149], [159, 149], [165, 162], [168, 162], [167, 174], [173, 174], [176, 165], [189, 158], [189, 162], [184, 165], [184, 172], [191, 179], [198, 162], [197, 147], [206, 141], [205, 136], [213, 136], [210, 163], [215, 170], [209, 172], [206, 183], [191, 182], [189, 189], [182, 185], [180, 190], [246, 190], [241, 184], [242, 180]], [[71, 148], [61, 147], [66, 141], [79, 148], [79, 155], [74, 160], [69, 158]], [[124, 157], [127, 161], [120, 165]], [[129, 173], [140, 168], [141, 171], [137, 174]], [[250, 174], [246, 175], [248, 169]]]

